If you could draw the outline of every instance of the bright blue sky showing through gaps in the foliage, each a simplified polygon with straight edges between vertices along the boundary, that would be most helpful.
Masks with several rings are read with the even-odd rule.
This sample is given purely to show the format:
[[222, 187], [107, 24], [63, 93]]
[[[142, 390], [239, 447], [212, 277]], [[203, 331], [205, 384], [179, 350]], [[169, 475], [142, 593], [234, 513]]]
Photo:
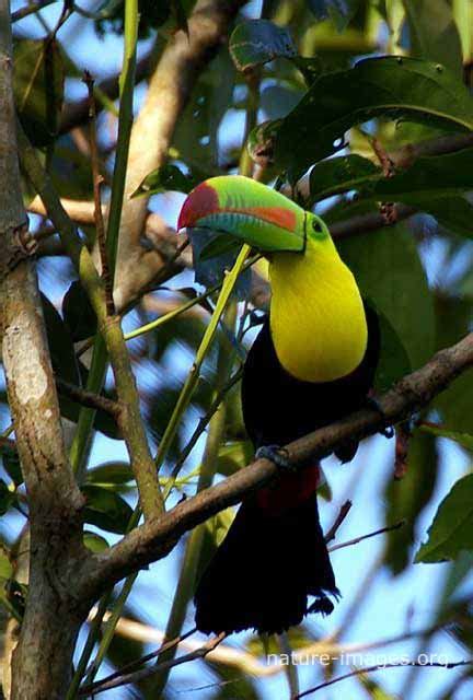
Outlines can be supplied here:
[[[257, 16], [258, 5], [258, 2], [251, 2], [247, 5], [246, 14], [249, 16]], [[13, 10], [18, 7], [20, 7], [20, 3], [13, 3]], [[92, 8], [93, 4], [85, 4], [84, 2], [83, 7]], [[50, 25], [54, 25], [59, 10], [59, 4], [51, 5], [44, 11], [43, 16]], [[16, 30], [27, 33], [28, 36], [44, 35], [44, 30], [34, 18], [19, 23]], [[89, 69], [96, 78], [115, 73], [120, 67], [120, 38], [107, 35], [105, 39], [99, 39], [88, 22], [80, 19], [71, 19], [60, 31], [59, 38], [77, 65], [83, 69]], [[140, 43], [139, 52], [146, 52], [149, 47], [150, 42]], [[78, 98], [83, 94], [84, 88], [79, 81], [69, 81], [67, 86], [68, 98]], [[140, 86], [137, 90], [136, 110], [139, 109], [143, 94], [143, 88]], [[241, 119], [238, 115], [234, 113], [229, 115], [222, 126], [221, 139], [224, 141], [233, 138], [232, 135], [236, 129], [241, 129]], [[175, 225], [181, 202], [182, 196], [161, 196], [153, 198], [151, 208], [159, 211], [171, 225]], [[442, 248], [440, 244], [431, 245], [425, 252], [424, 262], [431, 282], [436, 281], [441, 256]], [[461, 261], [459, 265], [461, 265]], [[69, 270], [67, 262], [58, 260], [54, 264], [54, 268], [49, 264], [46, 266], [41, 262], [38, 270], [43, 291], [49, 295], [54, 303], [59, 304], [66, 289], [66, 279]], [[180, 280], [174, 280], [173, 284], [178, 287]], [[136, 323], [136, 317], [131, 315], [125, 320], [125, 327], [128, 329]], [[173, 355], [169, 358], [169, 363], [178, 376], [184, 377], [192, 363], [192, 357], [188, 352], [175, 350]], [[147, 382], [146, 363], [140, 368], [138, 382], [142, 384]], [[0, 418], [3, 419], [3, 424], [7, 424], [7, 417]], [[194, 465], [198, 464], [204, 440], [199, 442], [193, 455], [192, 464]], [[416, 546], [425, 538], [427, 527], [440, 500], [449, 492], [455, 479], [464, 475], [470, 466], [465, 454], [451, 443], [442, 441], [441, 451], [440, 477], [434, 498], [422, 513], [417, 527]], [[123, 443], [108, 440], [102, 435], [95, 438], [91, 465], [99, 465], [113, 459], [126, 460], [126, 458]], [[334, 499], [332, 503], [323, 503], [321, 506], [323, 524], [330, 526], [338, 512], [339, 505], [347, 498], [354, 500], [354, 506], [339, 530], [337, 541], [348, 540], [382, 527], [384, 524], [385, 503], [380, 494], [384, 491], [385, 480], [391, 477], [392, 464], [393, 441], [387, 441], [381, 435], [362, 443], [357, 457], [349, 465], [342, 466], [334, 458], [328, 458], [324, 462]], [[19, 523], [20, 520], [16, 516], [7, 515], [3, 518], [2, 532], [7, 532], [12, 536], [18, 530]], [[108, 537], [108, 539], [111, 542], [114, 541], [113, 536]], [[377, 557], [381, 555], [382, 546], [383, 538], [374, 537], [333, 553], [332, 561], [343, 598], [331, 617], [322, 620], [312, 616], [309, 621], [310, 629], [316, 630], [319, 633], [331, 633], [337, 629], [338, 625], [345, 619], [346, 610], [350, 609], [353, 602], [356, 599], [360, 586], [364, 585], [367, 572], [373, 565]], [[176, 547], [168, 559], [155, 563], [149, 571], [140, 573], [131, 597], [131, 604], [140, 618], [158, 629], [163, 629], [168, 619], [181, 555], [182, 545]], [[446, 564], [418, 564], [409, 567], [404, 574], [396, 579], [392, 579], [387, 572], [381, 571], [369, 594], [367, 592], [366, 596], [361, 595], [359, 607], [351, 619], [346, 635], [343, 637], [343, 642], [369, 642], [403, 633], [407, 629], [428, 627], [447, 571], [448, 567]], [[470, 593], [473, 591], [472, 584], [472, 578], [469, 576], [464, 583], [464, 588]], [[188, 629], [192, 626], [193, 614], [191, 609], [184, 629]], [[241, 649], [249, 638], [249, 634], [233, 635], [227, 643]], [[83, 639], [84, 635], [81, 634], [81, 641]], [[153, 648], [153, 645], [150, 645], [149, 650]], [[389, 652], [393, 658], [406, 654], [411, 657], [417, 651], [415, 641], [407, 641], [389, 649], [379, 650], [382, 653]], [[465, 656], [465, 651], [445, 632], [434, 638], [429, 650], [420, 651], [447, 654], [449, 661], [457, 661]], [[104, 667], [104, 670], [107, 670], [106, 667]], [[337, 673], [347, 670], [346, 666], [339, 666]], [[387, 691], [394, 693], [400, 689], [400, 679], [406, 677], [408, 673], [405, 669], [392, 669], [379, 672], [373, 677], [382, 682]], [[418, 669], [414, 676], [414, 684], [409, 685], [408, 692], [403, 695], [403, 700], [414, 697], [416, 700], [431, 700], [437, 697], [439, 689], [443, 685], [451, 682], [457, 673], [443, 669]], [[320, 669], [313, 665], [300, 666], [299, 674], [301, 690], [321, 680]], [[232, 675], [236, 677], [238, 672], [235, 670]], [[215, 689], [199, 691], [195, 690], [195, 688], [211, 684], [214, 679], [208, 667], [200, 662], [183, 665], [172, 673], [171, 697], [181, 698], [188, 695], [188, 697], [196, 700], [204, 700]], [[264, 700], [288, 697], [286, 680], [282, 675], [256, 681], [256, 684]], [[455, 699], [466, 700], [472, 695], [473, 684], [470, 684], [469, 687], [465, 687], [462, 692], [455, 696]], [[127, 689], [120, 689], [109, 691], [103, 697], [115, 700], [130, 698], [131, 693]], [[361, 700], [367, 696], [356, 680], [347, 680], [314, 697], [321, 698], [321, 700], [335, 700], [339, 697]], [[238, 698], [236, 691], [235, 698]]]

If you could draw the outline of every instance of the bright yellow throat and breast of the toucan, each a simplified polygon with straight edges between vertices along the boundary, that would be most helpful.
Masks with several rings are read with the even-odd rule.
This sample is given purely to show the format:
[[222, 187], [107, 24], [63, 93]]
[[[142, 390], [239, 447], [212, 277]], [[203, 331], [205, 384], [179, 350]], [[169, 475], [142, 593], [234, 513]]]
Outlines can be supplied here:
[[270, 330], [282, 366], [304, 382], [332, 382], [361, 362], [368, 328], [354, 276], [330, 236], [269, 265]]

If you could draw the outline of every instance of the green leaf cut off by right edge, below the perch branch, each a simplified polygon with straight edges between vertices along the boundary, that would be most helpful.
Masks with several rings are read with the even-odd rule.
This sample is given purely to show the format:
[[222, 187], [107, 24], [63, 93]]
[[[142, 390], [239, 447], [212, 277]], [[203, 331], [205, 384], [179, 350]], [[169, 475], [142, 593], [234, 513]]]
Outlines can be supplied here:
[[447, 561], [473, 549], [473, 474], [459, 479], [440, 503], [428, 535], [416, 563]]

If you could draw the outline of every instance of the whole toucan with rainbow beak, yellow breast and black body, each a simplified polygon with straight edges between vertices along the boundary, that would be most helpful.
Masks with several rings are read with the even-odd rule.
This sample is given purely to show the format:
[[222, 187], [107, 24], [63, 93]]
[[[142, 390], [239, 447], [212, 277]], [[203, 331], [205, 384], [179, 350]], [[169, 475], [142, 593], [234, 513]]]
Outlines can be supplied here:
[[[244, 499], [204, 571], [196, 626], [280, 633], [308, 612], [332, 612], [339, 596], [319, 520], [320, 465], [290, 470], [280, 447], [369, 400], [378, 317], [323, 220], [261, 183], [205, 180], [184, 201], [184, 228], [232, 236], [269, 261], [269, 314], [247, 353], [241, 397], [256, 455], [281, 466], [276, 482]], [[357, 446], [336, 455], [348, 462]]]

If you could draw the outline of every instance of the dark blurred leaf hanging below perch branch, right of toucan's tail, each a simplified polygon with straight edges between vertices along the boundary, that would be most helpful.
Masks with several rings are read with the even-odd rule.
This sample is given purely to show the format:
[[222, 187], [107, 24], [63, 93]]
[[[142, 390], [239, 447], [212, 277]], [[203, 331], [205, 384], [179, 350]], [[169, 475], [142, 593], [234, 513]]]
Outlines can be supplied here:
[[401, 520], [404, 527], [388, 533], [385, 563], [394, 575], [412, 562], [412, 546], [416, 540], [416, 525], [424, 506], [430, 501], [437, 482], [438, 453], [431, 435], [414, 433], [408, 443], [407, 471], [403, 479], [389, 476], [385, 489], [385, 523]]

